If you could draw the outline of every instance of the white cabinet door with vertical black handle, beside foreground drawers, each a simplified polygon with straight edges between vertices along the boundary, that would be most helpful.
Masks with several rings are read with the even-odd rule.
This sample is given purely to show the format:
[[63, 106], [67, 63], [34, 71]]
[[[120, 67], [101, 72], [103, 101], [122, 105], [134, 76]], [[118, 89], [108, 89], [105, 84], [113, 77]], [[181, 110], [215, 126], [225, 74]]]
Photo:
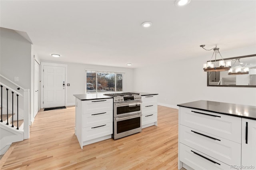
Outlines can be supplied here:
[[242, 170], [256, 170], [256, 120], [242, 118]]

